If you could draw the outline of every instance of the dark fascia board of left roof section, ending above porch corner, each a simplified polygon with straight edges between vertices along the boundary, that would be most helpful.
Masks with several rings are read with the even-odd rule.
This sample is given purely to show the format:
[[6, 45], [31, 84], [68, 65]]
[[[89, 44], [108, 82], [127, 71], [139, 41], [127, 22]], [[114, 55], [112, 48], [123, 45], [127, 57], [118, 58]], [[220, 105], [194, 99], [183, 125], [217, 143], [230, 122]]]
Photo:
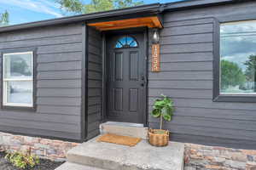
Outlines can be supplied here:
[[61, 25], [61, 24], [68, 24], [72, 22], [79, 22], [79, 21], [90, 21], [90, 20], [104, 20], [104, 19], [110, 19], [113, 17], [119, 17], [124, 18], [126, 17], [132, 17], [138, 16], [138, 14], [159, 14], [160, 13], [160, 3], [153, 3], [148, 5], [141, 5], [137, 7], [131, 7], [131, 8], [122, 8], [122, 9], [113, 9], [109, 11], [104, 12], [98, 12], [98, 13], [91, 13], [91, 14], [80, 14], [70, 17], [63, 17], [60, 19], [52, 19], [52, 20], [42, 20], [37, 22], [31, 22], [31, 23], [25, 23], [15, 26], [3, 26], [0, 27], [0, 33], [6, 32], [6, 31], [16, 31], [16, 30], [22, 30], [22, 29], [29, 29], [34, 27], [40, 27], [40, 26], [52, 26], [52, 25]]

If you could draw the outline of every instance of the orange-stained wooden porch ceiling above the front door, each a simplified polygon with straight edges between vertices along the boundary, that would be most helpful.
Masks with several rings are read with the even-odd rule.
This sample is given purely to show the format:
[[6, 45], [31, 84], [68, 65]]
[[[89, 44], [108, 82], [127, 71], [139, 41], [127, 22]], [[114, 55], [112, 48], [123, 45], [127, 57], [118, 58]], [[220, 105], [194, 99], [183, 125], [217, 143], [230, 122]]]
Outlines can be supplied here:
[[126, 20], [112, 20], [104, 22], [90, 23], [88, 26], [96, 27], [99, 31], [119, 30], [147, 26], [148, 28], [162, 28], [160, 19], [157, 16], [141, 17]]

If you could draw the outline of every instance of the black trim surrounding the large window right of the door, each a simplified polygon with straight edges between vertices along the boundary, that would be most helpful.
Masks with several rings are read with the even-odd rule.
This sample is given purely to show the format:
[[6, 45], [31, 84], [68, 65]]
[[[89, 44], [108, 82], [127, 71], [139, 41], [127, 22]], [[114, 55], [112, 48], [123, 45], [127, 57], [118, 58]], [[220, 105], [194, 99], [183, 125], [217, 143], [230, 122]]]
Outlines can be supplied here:
[[256, 94], [220, 94], [219, 93], [219, 72], [220, 72], [220, 25], [229, 22], [256, 20], [252, 14], [232, 15], [221, 18], [215, 18], [213, 24], [213, 95], [214, 102], [240, 102], [256, 103]]

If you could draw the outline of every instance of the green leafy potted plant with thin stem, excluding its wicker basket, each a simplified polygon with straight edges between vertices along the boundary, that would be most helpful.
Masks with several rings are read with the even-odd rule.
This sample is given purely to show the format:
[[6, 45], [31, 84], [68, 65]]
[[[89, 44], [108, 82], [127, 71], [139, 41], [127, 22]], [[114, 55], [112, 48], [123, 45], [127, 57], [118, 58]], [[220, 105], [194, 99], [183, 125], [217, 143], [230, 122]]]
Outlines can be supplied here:
[[166, 95], [161, 94], [161, 99], [156, 99], [154, 101], [151, 115], [156, 118], [160, 117], [160, 129], [162, 129], [163, 119], [170, 122], [172, 120], [173, 112], [174, 105], [172, 99], [168, 98]]

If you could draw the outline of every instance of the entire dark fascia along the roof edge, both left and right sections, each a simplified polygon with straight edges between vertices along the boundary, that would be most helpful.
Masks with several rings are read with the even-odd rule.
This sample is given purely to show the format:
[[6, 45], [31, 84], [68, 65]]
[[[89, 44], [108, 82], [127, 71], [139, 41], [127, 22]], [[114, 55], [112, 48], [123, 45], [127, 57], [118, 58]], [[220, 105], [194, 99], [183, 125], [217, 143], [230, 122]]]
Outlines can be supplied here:
[[116, 20], [116, 19], [125, 19], [125, 18], [133, 18], [137, 16], [150, 16], [153, 14], [160, 14], [163, 11], [175, 11], [175, 10], [183, 10], [187, 8], [200, 8], [200, 7], [208, 7], [220, 4], [229, 4], [229, 3], [244, 3], [248, 1], [254, 0], [183, 0], [176, 3], [153, 3], [148, 5], [141, 5], [137, 7], [131, 8], [122, 8], [122, 9], [114, 9], [104, 12], [91, 13], [91, 14], [80, 14], [70, 17], [63, 17], [60, 19], [52, 19], [52, 20], [42, 20], [37, 22], [25, 23], [15, 26], [3, 26], [0, 27], [0, 33], [6, 31], [17, 31], [22, 29], [29, 29], [40, 26], [53, 26], [53, 25], [61, 25], [68, 24], [72, 22], [79, 21], [96, 21], [96, 20]]

